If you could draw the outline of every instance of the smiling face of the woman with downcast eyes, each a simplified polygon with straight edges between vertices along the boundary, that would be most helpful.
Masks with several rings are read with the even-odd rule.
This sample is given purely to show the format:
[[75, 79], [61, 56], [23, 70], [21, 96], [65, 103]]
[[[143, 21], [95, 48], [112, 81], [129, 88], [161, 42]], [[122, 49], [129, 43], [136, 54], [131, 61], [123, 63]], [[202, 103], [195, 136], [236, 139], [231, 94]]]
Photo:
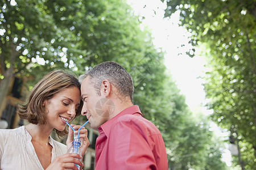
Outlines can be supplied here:
[[69, 122], [76, 116], [76, 109], [80, 105], [80, 90], [77, 87], [64, 88], [51, 99], [44, 101], [47, 112], [47, 126], [63, 131]]

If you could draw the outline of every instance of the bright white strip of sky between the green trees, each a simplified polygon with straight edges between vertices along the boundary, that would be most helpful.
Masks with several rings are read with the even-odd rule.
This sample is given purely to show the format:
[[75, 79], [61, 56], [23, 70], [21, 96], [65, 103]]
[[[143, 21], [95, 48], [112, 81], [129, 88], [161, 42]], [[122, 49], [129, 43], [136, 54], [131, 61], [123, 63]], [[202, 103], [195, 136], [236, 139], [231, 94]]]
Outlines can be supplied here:
[[[135, 15], [145, 17], [142, 22], [142, 29], [143, 27], [149, 27], [154, 37], [153, 42], [156, 48], [162, 48], [166, 52], [165, 65], [170, 70], [172, 78], [176, 81], [180, 93], [185, 95], [186, 104], [191, 111], [201, 111], [205, 114], [211, 113], [204, 107], [204, 104], [206, 104], [202, 85], [204, 81], [199, 78], [206, 71], [204, 67], [205, 59], [199, 53], [195, 53], [193, 58], [185, 54], [185, 52], [189, 51], [191, 45], [187, 43], [189, 32], [177, 24], [179, 22], [179, 13], [176, 12], [171, 18], [163, 19], [163, 9], [166, 8], [166, 5], [160, 0], [127, 0], [127, 3], [133, 7]], [[185, 46], [180, 48], [181, 44], [185, 44]], [[179, 53], [181, 55], [178, 55]], [[212, 123], [211, 126], [218, 135], [222, 137], [227, 135], [220, 133], [220, 129], [216, 124]], [[228, 144], [226, 144], [226, 148], [228, 148]], [[230, 166], [232, 158], [230, 151], [226, 148], [224, 154], [222, 154], [222, 160]]]

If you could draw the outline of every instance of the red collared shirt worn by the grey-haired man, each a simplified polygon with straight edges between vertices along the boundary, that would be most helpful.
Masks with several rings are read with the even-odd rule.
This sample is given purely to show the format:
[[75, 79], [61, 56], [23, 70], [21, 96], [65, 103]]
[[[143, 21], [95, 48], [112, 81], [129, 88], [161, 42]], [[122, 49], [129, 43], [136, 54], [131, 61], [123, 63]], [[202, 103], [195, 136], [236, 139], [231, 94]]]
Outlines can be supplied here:
[[167, 169], [167, 154], [160, 131], [137, 105], [117, 114], [98, 128], [95, 170]]

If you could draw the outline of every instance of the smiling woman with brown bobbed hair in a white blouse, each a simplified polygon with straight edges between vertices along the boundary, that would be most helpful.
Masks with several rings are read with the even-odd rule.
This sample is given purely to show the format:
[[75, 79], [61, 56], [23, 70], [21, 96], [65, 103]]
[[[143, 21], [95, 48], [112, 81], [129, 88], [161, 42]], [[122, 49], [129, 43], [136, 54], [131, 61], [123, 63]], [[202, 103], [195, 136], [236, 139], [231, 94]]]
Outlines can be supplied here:
[[[78, 154], [66, 154], [72, 146], [73, 131], [69, 128], [68, 132], [65, 121], [71, 122], [81, 114], [80, 96], [76, 76], [62, 70], [45, 75], [31, 91], [27, 104], [18, 106], [20, 118], [29, 124], [0, 130], [0, 169], [77, 169], [75, 164], [83, 167]], [[81, 126], [72, 127], [77, 134]], [[53, 130], [60, 137], [68, 134], [67, 146], [51, 138]], [[89, 146], [85, 128], [79, 137], [83, 157]]]

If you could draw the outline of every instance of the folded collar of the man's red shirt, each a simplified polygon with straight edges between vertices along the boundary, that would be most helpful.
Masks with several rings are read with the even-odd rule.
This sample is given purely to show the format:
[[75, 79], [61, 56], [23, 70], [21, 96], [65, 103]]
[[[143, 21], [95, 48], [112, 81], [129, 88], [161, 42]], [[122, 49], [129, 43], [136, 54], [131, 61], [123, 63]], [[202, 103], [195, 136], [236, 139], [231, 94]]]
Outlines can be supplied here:
[[115, 121], [121, 117], [124, 116], [126, 114], [139, 114], [139, 116], [143, 116], [141, 113], [141, 110], [139, 109], [138, 105], [133, 105], [129, 108], [124, 109], [122, 112], [118, 113], [117, 116], [111, 118], [110, 120], [106, 121], [103, 125], [101, 125], [98, 128], [98, 131], [100, 133], [100, 135], [102, 133], [105, 133], [106, 136], [108, 137], [108, 134], [110, 132], [110, 130], [112, 129], [112, 126], [115, 124]]

